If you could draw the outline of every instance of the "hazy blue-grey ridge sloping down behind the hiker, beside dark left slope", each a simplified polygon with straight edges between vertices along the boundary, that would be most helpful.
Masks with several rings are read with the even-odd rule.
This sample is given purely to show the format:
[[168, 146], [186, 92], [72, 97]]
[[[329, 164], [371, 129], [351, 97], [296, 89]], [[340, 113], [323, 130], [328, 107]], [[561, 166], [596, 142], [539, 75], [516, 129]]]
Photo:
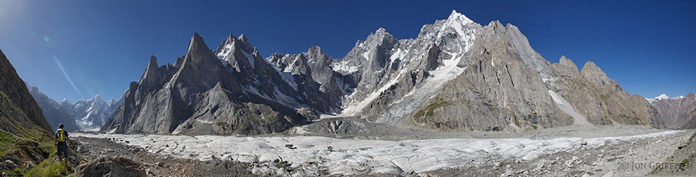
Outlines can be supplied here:
[[40, 92], [37, 87], [31, 87], [29, 85], [27, 85], [27, 87], [29, 87], [29, 93], [31, 93], [36, 103], [38, 103], [38, 106], [43, 111], [43, 115], [46, 117], [46, 121], [48, 121], [52, 130], [58, 129], [59, 124], [63, 124], [63, 129], [68, 131], [78, 130], [75, 119], [68, 110], [65, 110], [58, 102]]

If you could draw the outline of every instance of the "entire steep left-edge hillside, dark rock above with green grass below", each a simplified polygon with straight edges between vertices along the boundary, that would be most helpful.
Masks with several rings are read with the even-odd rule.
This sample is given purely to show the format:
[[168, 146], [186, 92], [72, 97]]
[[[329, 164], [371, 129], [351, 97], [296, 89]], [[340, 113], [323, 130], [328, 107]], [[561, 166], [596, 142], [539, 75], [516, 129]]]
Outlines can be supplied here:
[[52, 134], [41, 108], [0, 51], [0, 158], [38, 164], [54, 151]]

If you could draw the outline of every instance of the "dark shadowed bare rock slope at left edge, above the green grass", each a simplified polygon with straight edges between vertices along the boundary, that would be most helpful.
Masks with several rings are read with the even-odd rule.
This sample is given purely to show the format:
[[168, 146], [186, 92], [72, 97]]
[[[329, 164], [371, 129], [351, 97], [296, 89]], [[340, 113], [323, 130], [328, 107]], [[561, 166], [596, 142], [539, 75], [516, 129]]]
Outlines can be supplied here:
[[22, 78], [10, 64], [5, 53], [0, 51], [0, 129], [10, 133], [21, 133], [18, 126], [31, 128], [36, 125], [51, 131], [41, 108], [29, 94]]

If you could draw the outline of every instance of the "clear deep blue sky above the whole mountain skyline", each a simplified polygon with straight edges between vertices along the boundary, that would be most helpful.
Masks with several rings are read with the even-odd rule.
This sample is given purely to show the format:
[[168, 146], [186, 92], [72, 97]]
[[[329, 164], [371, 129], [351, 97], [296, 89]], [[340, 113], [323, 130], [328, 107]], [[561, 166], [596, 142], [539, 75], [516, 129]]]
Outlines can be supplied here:
[[244, 34], [262, 56], [319, 46], [344, 57], [386, 28], [416, 38], [457, 10], [514, 24], [546, 60], [595, 62], [631, 94], [696, 90], [695, 1], [13, 1], [0, 0], [0, 49], [27, 83], [56, 101], [116, 98], [186, 53], [198, 32], [215, 49]]

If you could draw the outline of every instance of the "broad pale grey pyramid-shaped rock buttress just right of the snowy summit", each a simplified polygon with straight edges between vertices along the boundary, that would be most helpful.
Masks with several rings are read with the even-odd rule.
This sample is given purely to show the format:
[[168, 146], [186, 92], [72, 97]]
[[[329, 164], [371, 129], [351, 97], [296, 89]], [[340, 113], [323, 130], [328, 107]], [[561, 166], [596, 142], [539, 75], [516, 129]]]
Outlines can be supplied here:
[[[461, 75], [411, 115], [413, 122], [436, 130], [516, 131], [573, 124], [548, 94], [533, 55], [512, 25], [491, 22], [480, 30], [473, 47], [459, 59]], [[516, 45], [513, 45], [516, 44]]]

